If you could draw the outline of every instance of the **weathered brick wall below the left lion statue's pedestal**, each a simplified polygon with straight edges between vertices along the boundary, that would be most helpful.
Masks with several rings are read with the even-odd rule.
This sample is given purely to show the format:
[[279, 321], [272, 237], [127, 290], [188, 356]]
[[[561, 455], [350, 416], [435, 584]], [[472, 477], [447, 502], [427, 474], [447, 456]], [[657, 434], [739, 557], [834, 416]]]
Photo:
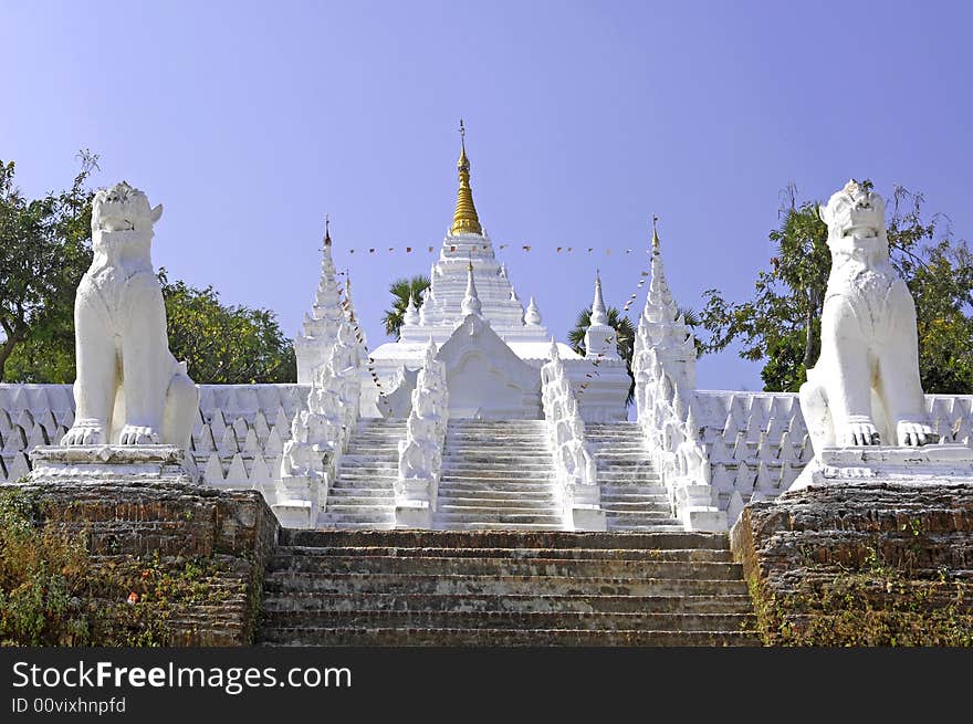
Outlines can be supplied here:
[[[276, 518], [259, 492], [159, 482], [15, 487], [33, 501], [38, 525], [86, 539], [93, 571], [111, 581], [97, 594], [105, 599], [93, 605], [118, 606], [119, 596], [124, 604], [130, 588], [151, 590], [143, 595], [143, 608], [166, 606], [155, 601], [179, 588], [165, 612], [161, 643], [244, 646], [252, 640], [264, 565], [278, 537]], [[143, 613], [133, 619], [135, 628], [154, 611]], [[112, 626], [107, 620], [104, 628]], [[90, 643], [118, 640], [117, 631], [95, 630]]]

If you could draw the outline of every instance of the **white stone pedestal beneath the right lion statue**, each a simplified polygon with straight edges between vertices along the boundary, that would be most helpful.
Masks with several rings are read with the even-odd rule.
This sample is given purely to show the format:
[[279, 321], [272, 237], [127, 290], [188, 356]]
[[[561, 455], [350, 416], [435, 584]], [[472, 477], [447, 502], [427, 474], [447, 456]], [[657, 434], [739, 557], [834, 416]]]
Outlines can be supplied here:
[[973, 485], [973, 449], [960, 444], [824, 448], [794, 481], [788, 492], [810, 485], [870, 482]]

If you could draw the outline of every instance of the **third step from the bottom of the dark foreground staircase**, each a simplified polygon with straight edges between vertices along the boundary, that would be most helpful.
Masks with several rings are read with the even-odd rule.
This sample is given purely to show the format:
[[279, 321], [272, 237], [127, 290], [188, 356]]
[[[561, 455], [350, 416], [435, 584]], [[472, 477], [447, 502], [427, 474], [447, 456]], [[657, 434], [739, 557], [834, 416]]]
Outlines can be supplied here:
[[577, 613], [751, 613], [750, 596], [326, 594], [271, 591], [265, 611], [508, 611]]

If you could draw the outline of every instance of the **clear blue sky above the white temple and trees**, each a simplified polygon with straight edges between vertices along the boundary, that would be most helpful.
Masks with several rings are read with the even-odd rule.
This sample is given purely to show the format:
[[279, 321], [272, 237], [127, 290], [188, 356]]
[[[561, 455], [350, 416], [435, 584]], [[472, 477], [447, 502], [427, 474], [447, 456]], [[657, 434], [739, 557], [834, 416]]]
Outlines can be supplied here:
[[[609, 304], [635, 291], [645, 258], [620, 250], [645, 249], [652, 212], [697, 307], [709, 287], [749, 294], [791, 181], [808, 198], [902, 183], [969, 239], [971, 8], [0, 0], [0, 158], [38, 195], [98, 153], [97, 186], [165, 204], [157, 265], [275, 309], [291, 336], [329, 212], [375, 347], [388, 282], [432, 261], [398, 249], [438, 246], [451, 219], [462, 116], [480, 218], [495, 244], [532, 245], [501, 258], [563, 338], [596, 266]], [[705, 357], [700, 386], [760, 389], [758, 369]]]

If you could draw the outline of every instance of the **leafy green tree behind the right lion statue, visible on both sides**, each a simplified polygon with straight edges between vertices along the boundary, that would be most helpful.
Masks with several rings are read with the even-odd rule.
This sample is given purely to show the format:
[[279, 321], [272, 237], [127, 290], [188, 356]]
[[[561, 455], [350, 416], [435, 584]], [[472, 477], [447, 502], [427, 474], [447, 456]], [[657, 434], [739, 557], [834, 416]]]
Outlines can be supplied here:
[[[869, 182], [866, 182], [869, 183]], [[870, 183], [869, 183], [870, 186]], [[830, 252], [818, 202], [784, 191], [781, 224], [770, 233], [775, 255], [761, 270], [754, 294], [729, 302], [719, 290], [704, 293], [703, 351], [741, 345], [744, 359], [763, 360], [768, 391], [796, 391], [820, 353]], [[892, 191], [888, 238], [890, 259], [916, 300], [919, 365], [927, 392], [973, 392], [973, 265], [964, 241], [952, 239], [942, 217], [925, 218], [923, 197], [902, 187]]]

